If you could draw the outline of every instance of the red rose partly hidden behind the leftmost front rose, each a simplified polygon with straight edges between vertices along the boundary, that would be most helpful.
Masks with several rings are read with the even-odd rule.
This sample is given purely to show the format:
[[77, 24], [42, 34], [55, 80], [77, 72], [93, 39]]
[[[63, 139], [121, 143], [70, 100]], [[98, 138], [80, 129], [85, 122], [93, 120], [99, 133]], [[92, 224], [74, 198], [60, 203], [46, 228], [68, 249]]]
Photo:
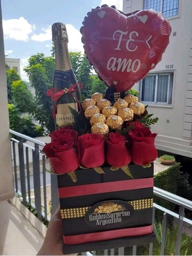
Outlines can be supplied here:
[[76, 145], [78, 133], [72, 130], [71, 126], [67, 126], [65, 128], [62, 128], [50, 133], [49, 136], [51, 137], [51, 142], [64, 138], [68, 142], [73, 141], [74, 145]]

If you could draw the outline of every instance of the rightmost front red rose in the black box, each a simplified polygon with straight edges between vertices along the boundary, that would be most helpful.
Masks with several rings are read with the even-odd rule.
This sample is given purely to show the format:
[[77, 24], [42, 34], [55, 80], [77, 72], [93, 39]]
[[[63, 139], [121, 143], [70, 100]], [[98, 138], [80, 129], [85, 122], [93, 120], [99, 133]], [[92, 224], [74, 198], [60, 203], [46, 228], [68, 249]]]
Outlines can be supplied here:
[[157, 158], [155, 148], [156, 133], [152, 133], [147, 127], [135, 127], [129, 131], [132, 141], [132, 161], [138, 165], [152, 163]]

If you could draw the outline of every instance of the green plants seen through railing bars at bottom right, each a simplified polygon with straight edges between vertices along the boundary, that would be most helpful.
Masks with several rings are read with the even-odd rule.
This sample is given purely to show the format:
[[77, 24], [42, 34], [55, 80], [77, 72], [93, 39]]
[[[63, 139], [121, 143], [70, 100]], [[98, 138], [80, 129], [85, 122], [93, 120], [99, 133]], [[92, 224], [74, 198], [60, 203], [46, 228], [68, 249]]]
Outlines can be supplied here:
[[[165, 249], [164, 255], [176, 255], [175, 247], [177, 240], [177, 227], [170, 229], [166, 228], [165, 234]], [[153, 244], [153, 255], [161, 255], [161, 241], [162, 241], [162, 224], [156, 222], [154, 224], [154, 231], [156, 234], [156, 239]], [[141, 249], [142, 255], [148, 255], [148, 246], [143, 246]], [[181, 250], [179, 255], [192, 255], [192, 238], [188, 237], [185, 233], [182, 233], [181, 239]]]

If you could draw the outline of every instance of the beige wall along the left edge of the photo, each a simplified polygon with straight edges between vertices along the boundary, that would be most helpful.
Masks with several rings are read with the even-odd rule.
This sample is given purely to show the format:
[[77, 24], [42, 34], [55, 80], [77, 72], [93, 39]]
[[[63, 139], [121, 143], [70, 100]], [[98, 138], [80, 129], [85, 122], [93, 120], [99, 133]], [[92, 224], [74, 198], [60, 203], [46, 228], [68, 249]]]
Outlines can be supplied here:
[[2, 28], [2, 10], [0, 0], [0, 201], [13, 196], [13, 175], [11, 147], [9, 137], [9, 115], [7, 108], [7, 84], [5, 70], [5, 52]]

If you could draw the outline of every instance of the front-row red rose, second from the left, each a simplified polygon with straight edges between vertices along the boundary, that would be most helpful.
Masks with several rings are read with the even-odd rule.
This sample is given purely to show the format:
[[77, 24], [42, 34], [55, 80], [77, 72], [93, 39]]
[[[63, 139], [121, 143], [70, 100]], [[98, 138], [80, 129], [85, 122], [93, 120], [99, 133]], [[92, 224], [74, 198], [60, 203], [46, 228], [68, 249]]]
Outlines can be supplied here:
[[83, 134], [78, 137], [77, 150], [80, 164], [99, 167], [104, 163], [104, 139], [99, 134]]

